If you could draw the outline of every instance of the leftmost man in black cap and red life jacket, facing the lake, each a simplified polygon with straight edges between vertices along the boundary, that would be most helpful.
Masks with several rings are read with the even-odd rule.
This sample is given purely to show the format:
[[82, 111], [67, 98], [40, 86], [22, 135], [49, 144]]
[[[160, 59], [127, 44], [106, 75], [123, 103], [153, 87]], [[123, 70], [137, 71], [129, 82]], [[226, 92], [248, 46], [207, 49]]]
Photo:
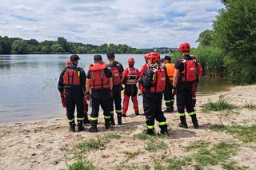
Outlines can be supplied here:
[[[75, 132], [74, 109], [77, 107], [78, 131], [82, 131], [84, 121], [83, 97], [86, 83], [86, 73], [78, 67], [78, 55], [70, 57], [71, 65], [62, 70], [58, 81], [58, 91], [61, 97], [66, 97], [66, 116], [70, 123], [70, 130]], [[66, 94], [64, 94], [64, 89]]]

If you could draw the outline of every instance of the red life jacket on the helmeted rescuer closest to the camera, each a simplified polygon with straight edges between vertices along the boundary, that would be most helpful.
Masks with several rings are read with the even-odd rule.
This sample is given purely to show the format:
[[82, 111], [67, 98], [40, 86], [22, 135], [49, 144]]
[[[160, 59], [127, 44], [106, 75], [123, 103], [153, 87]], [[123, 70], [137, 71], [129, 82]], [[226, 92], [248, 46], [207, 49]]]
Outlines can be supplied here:
[[162, 93], [166, 88], [166, 73], [165, 70], [160, 67], [160, 69], [153, 69], [154, 76], [151, 82], [150, 92], [151, 93]]

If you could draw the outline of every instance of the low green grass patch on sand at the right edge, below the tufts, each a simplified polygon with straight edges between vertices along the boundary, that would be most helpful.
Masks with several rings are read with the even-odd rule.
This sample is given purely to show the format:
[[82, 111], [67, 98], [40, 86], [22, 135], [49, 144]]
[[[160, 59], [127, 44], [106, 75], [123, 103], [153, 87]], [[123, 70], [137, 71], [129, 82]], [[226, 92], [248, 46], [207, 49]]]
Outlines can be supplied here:
[[246, 143], [256, 142], [256, 125], [212, 125], [216, 131], [229, 132]]

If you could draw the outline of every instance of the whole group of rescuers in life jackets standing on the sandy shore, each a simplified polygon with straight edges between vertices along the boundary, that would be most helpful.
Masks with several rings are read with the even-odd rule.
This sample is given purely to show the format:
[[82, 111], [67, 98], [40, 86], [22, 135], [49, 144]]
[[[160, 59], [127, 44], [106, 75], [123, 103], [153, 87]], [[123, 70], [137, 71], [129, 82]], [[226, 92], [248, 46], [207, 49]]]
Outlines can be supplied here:
[[[144, 116], [146, 117], [146, 134], [154, 135], [154, 121], [158, 121], [161, 133], [168, 135], [164, 113], [174, 111], [174, 96], [177, 96], [178, 115], [182, 128], [186, 124], [185, 109], [191, 117], [194, 128], [199, 128], [194, 112], [195, 93], [202, 67], [190, 53], [190, 44], [182, 43], [179, 47], [182, 57], [171, 63], [170, 56], [162, 60], [159, 53], [146, 53], [146, 64], [139, 71], [134, 68], [134, 58], [128, 58], [129, 67], [123, 69], [115, 60], [114, 53], [107, 53], [109, 64], [102, 60], [101, 55], [94, 55], [94, 64], [89, 66], [88, 73], [78, 67], [80, 57], [71, 55], [66, 68], [62, 70], [58, 81], [58, 90], [62, 97], [62, 105], [66, 107], [66, 116], [70, 130], [75, 132], [74, 110], [77, 109], [78, 131], [84, 130], [84, 124], [90, 124], [89, 132], [98, 132], [99, 107], [103, 110], [105, 128], [115, 125], [114, 112], [117, 114], [118, 125], [122, 125], [122, 117], [126, 117], [128, 105], [134, 104], [134, 113], [139, 115], [139, 95], [143, 97]], [[124, 85], [124, 88], [122, 87]], [[123, 106], [122, 106], [123, 92]], [[166, 101], [166, 110], [162, 111], [162, 97]], [[88, 118], [90, 101], [91, 114]]]

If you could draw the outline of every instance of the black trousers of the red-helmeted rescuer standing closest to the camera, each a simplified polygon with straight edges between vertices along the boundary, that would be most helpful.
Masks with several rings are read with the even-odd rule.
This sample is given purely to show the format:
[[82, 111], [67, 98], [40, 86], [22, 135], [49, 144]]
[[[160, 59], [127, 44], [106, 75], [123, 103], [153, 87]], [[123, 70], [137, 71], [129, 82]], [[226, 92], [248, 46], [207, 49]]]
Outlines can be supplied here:
[[166, 117], [162, 112], [162, 93], [157, 95], [145, 93], [143, 96], [143, 109], [147, 128], [154, 128], [154, 120], [159, 122], [159, 126], [166, 125]]

